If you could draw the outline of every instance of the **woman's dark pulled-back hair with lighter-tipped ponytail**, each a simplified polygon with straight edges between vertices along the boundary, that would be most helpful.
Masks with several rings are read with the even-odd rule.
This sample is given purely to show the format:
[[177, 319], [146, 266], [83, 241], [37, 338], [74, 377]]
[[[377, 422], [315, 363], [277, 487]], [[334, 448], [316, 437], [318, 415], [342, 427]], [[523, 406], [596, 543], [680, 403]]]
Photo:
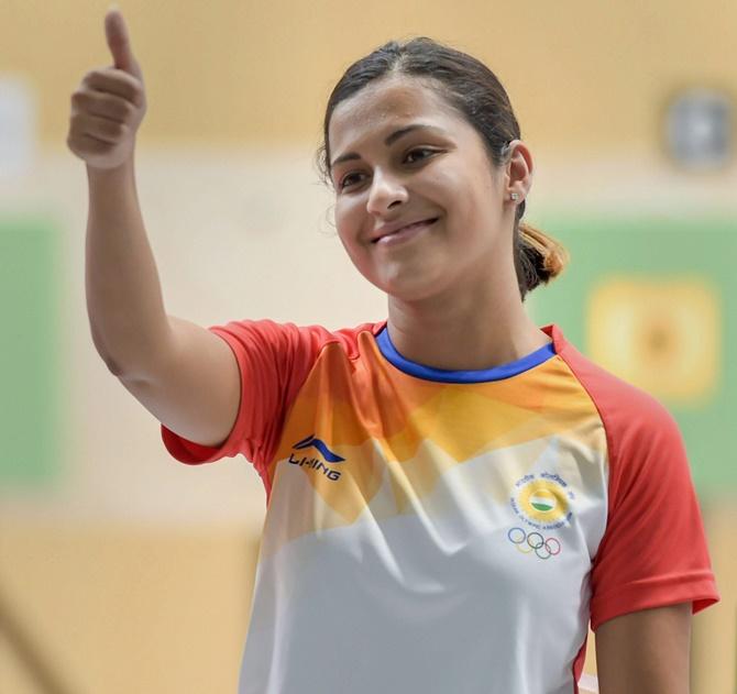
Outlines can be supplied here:
[[[504, 87], [476, 58], [420, 36], [405, 43], [389, 41], [351, 65], [336, 85], [326, 109], [323, 143], [317, 152], [322, 181], [330, 185], [330, 143], [328, 128], [336, 107], [381, 77], [422, 78], [479, 132], [495, 167], [506, 164], [512, 140], [521, 139], [519, 124]], [[517, 206], [514, 224], [514, 260], [522, 301], [539, 284], [558, 276], [569, 261], [565, 249], [520, 219], [525, 200]]]

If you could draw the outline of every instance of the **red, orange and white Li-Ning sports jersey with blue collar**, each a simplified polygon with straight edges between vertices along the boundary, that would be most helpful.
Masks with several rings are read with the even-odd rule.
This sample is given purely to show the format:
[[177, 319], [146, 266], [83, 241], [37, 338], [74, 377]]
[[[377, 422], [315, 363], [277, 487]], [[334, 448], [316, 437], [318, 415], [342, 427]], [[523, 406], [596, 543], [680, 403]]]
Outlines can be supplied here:
[[209, 330], [233, 429], [162, 437], [265, 487], [241, 694], [572, 694], [588, 624], [719, 599], [674, 419], [558, 326], [480, 371], [407, 360], [386, 321]]

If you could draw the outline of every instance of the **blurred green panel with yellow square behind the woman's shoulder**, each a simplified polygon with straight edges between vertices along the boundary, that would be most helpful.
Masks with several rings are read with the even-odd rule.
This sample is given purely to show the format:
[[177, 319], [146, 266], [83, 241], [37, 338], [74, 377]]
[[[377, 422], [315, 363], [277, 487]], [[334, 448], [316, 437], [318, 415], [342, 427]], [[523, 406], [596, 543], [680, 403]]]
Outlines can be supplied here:
[[[527, 304], [588, 357], [644, 388], [681, 427], [701, 495], [737, 486], [737, 220], [537, 220], [571, 261]], [[604, 342], [603, 342], [604, 341]]]

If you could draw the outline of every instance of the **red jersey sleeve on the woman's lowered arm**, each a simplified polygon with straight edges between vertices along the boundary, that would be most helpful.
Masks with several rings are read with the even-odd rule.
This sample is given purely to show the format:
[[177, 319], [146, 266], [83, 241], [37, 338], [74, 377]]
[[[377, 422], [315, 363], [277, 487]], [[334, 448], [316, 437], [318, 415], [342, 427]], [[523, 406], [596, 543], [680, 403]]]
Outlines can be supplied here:
[[686, 451], [670, 412], [632, 388], [604, 412], [608, 516], [591, 574], [591, 627], [618, 615], [718, 602]]

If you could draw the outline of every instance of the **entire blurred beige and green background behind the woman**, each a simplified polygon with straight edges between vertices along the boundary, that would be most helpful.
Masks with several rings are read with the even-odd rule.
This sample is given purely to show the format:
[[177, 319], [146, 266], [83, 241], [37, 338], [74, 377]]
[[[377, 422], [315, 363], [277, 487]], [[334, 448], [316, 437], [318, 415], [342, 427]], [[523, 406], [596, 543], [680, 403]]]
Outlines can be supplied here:
[[[528, 310], [679, 421], [722, 593], [694, 617], [692, 691], [733, 694], [737, 3], [120, 5], [166, 309], [205, 327], [385, 318], [314, 165], [327, 98], [389, 38], [491, 67], [535, 159], [525, 219], [571, 253]], [[72, 92], [111, 62], [107, 8], [0, 3], [0, 692], [234, 692], [264, 488], [243, 458], [172, 459], [89, 332], [87, 178], [65, 140]], [[588, 673], [594, 653], [590, 635]]]

